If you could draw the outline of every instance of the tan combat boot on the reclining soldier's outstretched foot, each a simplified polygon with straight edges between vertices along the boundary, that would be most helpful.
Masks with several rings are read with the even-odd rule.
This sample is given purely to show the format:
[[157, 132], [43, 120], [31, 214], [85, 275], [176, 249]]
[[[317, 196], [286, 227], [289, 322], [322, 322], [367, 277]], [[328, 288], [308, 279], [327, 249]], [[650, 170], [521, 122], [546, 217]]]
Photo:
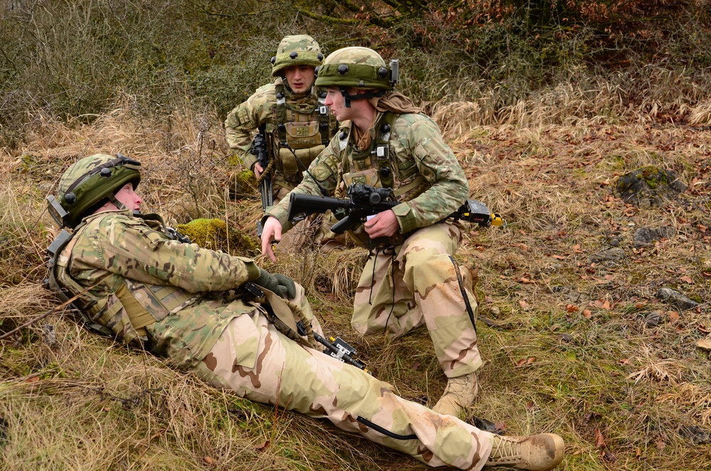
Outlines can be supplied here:
[[519, 470], [548, 471], [563, 460], [563, 439], [554, 433], [530, 437], [494, 435], [484, 466], [510, 466]]

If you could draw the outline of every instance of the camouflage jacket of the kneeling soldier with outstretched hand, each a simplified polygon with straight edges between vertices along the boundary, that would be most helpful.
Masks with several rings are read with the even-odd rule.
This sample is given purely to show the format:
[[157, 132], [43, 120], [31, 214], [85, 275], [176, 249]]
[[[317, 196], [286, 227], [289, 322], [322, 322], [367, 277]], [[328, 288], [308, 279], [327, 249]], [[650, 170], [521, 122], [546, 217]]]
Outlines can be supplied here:
[[[393, 125], [388, 125], [389, 122]], [[373, 143], [364, 152], [354, 150], [350, 126], [350, 122], [343, 123], [325, 151], [311, 164], [311, 175], [304, 175], [294, 193], [320, 195], [322, 186], [330, 194], [343, 197], [348, 184], [384, 186], [384, 175], [389, 173], [388, 186], [392, 186], [400, 202], [393, 208], [400, 233], [391, 238], [392, 245], [402, 243], [411, 231], [446, 218], [469, 197], [464, 171], [430, 117], [379, 113], [369, 129]], [[389, 172], [383, 171], [383, 162], [378, 162], [375, 156], [374, 147], [379, 142], [387, 144]], [[285, 198], [265, 213], [265, 217], [277, 218], [285, 230], [291, 228], [287, 220], [288, 203]]]

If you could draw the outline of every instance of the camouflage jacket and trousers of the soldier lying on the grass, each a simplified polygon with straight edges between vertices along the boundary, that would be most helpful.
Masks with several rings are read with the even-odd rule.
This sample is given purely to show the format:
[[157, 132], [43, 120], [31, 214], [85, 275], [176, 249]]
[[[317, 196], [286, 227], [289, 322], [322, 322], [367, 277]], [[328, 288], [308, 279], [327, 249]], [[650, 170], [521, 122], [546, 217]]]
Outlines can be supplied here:
[[[262, 306], [232, 290], [255, 277], [251, 260], [177, 243], [130, 211], [89, 216], [75, 237], [63, 255], [80, 285], [97, 285], [89, 297], [102, 300], [127, 286], [137, 303], [121, 308], [122, 319], [135, 318], [127, 309], [166, 311], [147, 325], [145, 346], [172, 366], [253, 401], [327, 418], [431, 466], [486, 464], [491, 433], [406, 401], [364, 371], [278, 332]], [[299, 285], [290, 302], [322, 334]], [[112, 319], [107, 325], [115, 327]]]

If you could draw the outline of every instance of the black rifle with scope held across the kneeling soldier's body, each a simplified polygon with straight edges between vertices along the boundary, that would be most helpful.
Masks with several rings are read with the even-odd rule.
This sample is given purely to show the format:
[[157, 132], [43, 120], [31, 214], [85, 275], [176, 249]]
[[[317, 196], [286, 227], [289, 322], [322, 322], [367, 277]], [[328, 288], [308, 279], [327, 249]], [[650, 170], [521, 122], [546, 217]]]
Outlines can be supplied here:
[[[352, 184], [348, 187], [347, 199], [328, 198], [327, 196], [312, 196], [292, 193], [289, 196], [289, 221], [301, 221], [313, 213], [325, 213], [331, 210], [340, 221], [331, 227], [334, 233], [343, 233], [359, 223], [367, 216], [387, 211], [399, 203], [391, 199], [392, 189], [374, 188], [366, 184]], [[501, 226], [503, 220], [497, 214], [489, 212], [485, 204], [468, 199], [457, 211], [446, 219], [477, 223], [479, 226]]]

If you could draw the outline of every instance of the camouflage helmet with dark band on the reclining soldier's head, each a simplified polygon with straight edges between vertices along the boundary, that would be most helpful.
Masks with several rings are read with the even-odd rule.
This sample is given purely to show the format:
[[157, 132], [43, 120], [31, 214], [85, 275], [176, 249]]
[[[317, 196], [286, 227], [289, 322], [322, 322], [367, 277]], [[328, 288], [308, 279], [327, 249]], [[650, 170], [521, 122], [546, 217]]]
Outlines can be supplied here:
[[131, 182], [141, 181], [141, 164], [117, 154], [95, 154], [78, 160], [59, 180], [58, 200], [69, 212], [65, 223], [74, 228], [98, 203]]

